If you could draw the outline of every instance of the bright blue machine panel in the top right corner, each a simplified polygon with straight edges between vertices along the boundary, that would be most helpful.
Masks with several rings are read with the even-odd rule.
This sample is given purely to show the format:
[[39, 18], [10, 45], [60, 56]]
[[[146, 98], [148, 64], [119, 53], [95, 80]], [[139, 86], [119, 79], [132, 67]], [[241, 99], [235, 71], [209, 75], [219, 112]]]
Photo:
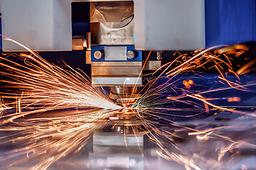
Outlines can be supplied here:
[[206, 47], [256, 40], [255, 0], [206, 0]]

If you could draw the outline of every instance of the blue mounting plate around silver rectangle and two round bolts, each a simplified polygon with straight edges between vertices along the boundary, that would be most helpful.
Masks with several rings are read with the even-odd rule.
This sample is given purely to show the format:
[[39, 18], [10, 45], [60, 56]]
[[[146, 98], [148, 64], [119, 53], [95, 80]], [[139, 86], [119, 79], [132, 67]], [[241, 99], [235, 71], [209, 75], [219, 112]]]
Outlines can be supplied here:
[[[92, 45], [91, 50], [92, 50], [92, 62], [115, 62], [113, 61], [105, 61], [105, 57], [103, 57], [102, 59], [95, 59], [95, 57], [93, 57], [93, 54], [95, 53], [95, 51], [102, 51], [104, 52], [105, 47], [127, 47], [127, 51], [132, 50], [135, 52], [135, 57], [134, 59], [128, 59], [126, 61], [122, 61], [122, 62], [142, 62], [142, 51], [139, 50], [135, 50], [134, 45]], [[120, 62], [120, 61], [119, 61]]]

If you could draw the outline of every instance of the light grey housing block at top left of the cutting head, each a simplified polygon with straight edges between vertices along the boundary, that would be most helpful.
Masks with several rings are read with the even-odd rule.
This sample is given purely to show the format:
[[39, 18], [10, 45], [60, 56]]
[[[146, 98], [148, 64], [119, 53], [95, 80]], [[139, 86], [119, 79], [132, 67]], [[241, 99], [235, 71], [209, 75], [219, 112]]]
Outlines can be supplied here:
[[[70, 0], [2, 0], [2, 35], [36, 51], [72, 50]], [[26, 51], [3, 40], [4, 51]]]

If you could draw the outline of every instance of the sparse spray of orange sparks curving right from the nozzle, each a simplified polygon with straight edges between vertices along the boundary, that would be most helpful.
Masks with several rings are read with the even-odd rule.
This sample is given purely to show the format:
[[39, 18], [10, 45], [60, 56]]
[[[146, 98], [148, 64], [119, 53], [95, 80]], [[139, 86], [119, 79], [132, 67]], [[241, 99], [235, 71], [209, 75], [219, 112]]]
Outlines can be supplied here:
[[[150, 132], [147, 134], [149, 139], [161, 149], [161, 152], [158, 152], [160, 157], [183, 164], [186, 169], [220, 169], [220, 167], [223, 168], [224, 165], [228, 164], [227, 162], [232, 161], [232, 159], [229, 159], [227, 162], [222, 162], [226, 152], [233, 152], [233, 149], [242, 146], [255, 149], [255, 142], [247, 142], [246, 140], [248, 139], [246, 137], [245, 139], [235, 140], [234, 137], [228, 137], [223, 132], [233, 128], [241, 129], [241, 131], [242, 129], [253, 130], [253, 125], [244, 125], [242, 127], [239, 125], [233, 127], [220, 126], [220, 128], [214, 130], [209, 128], [209, 125], [192, 128], [194, 125], [189, 127], [179, 125], [176, 122], [178, 118], [191, 119], [200, 115], [210, 116], [213, 113], [218, 114], [218, 111], [229, 111], [230, 113], [238, 113], [250, 117], [256, 116], [255, 111], [239, 111], [235, 106], [225, 108], [214, 104], [215, 101], [240, 101], [239, 97], [216, 97], [214, 93], [218, 91], [233, 89], [233, 91], [255, 93], [254, 86], [256, 81], [245, 82], [245, 84], [240, 82], [240, 75], [252, 72], [252, 65], [255, 64], [255, 60], [238, 68], [237, 71], [233, 69], [234, 57], [239, 57], [246, 50], [248, 48], [245, 45], [210, 47], [191, 56], [188, 54], [179, 55], [174, 61], [164, 64], [154, 72], [154, 74], [159, 72], [159, 76], [156, 76], [156, 79], [151, 79], [146, 84], [142, 90], [144, 94], [134, 103], [132, 108], [139, 108], [137, 109], [137, 117], [142, 119], [142, 127]], [[230, 55], [235, 56], [230, 57]], [[164, 71], [160, 72], [160, 69], [164, 69]], [[220, 76], [211, 78], [204, 76], [202, 72], [206, 72], [208, 69], [217, 70]], [[192, 76], [190, 73], [192, 73]], [[208, 85], [199, 84], [198, 80], [201, 80], [201, 82], [202, 80], [207, 80], [206, 83]], [[209, 81], [213, 81], [213, 83], [209, 83]], [[222, 86], [214, 88], [216, 84], [222, 84]], [[206, 88], [206, 86], [210, 87]], [[196, 87], [200, 87], [200, 89], [198, 90]], [[197, 140], [211, 141], [213, 139], [215, 142], [211, 143], [214, 145], [218, 141], [225, 141], [228, 146], [222, 146], [224, 147], [223, 149], [209, 147], [211, 152], [218, 154], [210, 158], [203, 156], [204, 152], [198, 153], [198, 155], [196, 152], [190, 153], [175, 140], [175, 138], [183, 139], [183, 135], [179, 135], [175, 130], [174, 132], [166, 130], [166, 126], [172, 127], [171, 129], [175, 129], [177, 132], [184, 132], [188, 136], [200, 134], [195, 136]], [[198, 130], [199, 128], [201, 130]], [[250, 134], [250, 132], [247, 133]], [[169, 142], [161, 142], [163, 139]], [[172, 149], [166, 147], [169, 145], [172, 146]], [[171, 151], [173, 149], [176, 152]]]

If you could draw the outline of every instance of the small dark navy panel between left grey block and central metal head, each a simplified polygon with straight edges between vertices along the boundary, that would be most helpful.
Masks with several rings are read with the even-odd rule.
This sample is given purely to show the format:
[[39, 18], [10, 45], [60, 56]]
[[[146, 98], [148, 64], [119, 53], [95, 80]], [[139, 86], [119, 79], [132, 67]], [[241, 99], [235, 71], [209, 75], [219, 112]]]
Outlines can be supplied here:
[[90, 23], [72, 23], [72, 35], [83, 35], [90, 32]]

